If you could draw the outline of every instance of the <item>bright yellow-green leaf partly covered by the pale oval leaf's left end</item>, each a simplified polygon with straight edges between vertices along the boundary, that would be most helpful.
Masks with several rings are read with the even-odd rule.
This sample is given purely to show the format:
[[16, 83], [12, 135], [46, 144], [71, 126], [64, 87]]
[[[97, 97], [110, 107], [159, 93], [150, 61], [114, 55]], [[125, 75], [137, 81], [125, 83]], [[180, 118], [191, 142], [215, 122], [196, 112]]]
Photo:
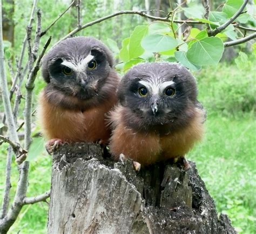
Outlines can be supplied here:
[[140, 45], [142, 38], [147, 34], [147, 26], [140, 25], [133, 30], [129, 42], [129, 58], [138, 58], [143, 54], [144, 49]]

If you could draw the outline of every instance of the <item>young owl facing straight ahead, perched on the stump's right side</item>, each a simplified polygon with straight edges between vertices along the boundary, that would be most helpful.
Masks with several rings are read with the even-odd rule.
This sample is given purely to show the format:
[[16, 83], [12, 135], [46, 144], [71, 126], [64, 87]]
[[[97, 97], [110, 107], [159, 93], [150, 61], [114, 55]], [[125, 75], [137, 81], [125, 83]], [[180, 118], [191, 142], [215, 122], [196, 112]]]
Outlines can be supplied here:
[[[110, 152], [146, 166], [184, 158], [204, 133], [205, 111], [193, 75], [176, 63], [134, 66], [120, 81], [110, 113]], [[184, 161], [184, 167], [189, 167]]]

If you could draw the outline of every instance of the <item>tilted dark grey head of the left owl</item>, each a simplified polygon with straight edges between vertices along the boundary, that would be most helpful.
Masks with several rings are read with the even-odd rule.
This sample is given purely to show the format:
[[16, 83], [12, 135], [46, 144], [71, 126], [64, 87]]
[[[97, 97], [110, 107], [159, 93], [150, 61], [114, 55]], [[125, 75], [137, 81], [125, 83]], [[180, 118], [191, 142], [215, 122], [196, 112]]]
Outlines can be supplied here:
[[45, 56], [43, 77], [65, 95], [97, 98], [113, 64], [110, 54], [95, 38], [66, 39]]

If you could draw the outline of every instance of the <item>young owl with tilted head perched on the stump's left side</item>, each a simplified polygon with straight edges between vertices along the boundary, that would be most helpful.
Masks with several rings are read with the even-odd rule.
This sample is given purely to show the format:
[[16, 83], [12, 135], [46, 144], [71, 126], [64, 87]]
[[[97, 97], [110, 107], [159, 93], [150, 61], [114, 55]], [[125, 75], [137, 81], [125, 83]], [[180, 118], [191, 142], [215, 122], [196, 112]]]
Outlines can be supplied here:
[[38, 115], [48, 151], [62, 142], [107, 143], [105, 115], [119, 83], [109, 49], [93, 37], [66, 39], [43, 58], [42, 75]]

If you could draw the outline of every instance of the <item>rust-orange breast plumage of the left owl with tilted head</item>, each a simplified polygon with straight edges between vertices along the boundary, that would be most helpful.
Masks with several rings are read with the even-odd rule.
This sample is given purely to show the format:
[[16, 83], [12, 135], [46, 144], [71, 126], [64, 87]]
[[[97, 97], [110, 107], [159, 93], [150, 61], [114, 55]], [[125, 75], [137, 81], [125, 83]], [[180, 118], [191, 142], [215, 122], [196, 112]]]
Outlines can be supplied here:
[[110, 129], [106, 127], [105, 114], [116, 104], [113, 94], [107, 102], [88, 110], [65, 109], [51, 104], [44, 92], [39, 98], [39, 121], [48, 139], [61, 139], [68, 142], [106, 143]]

